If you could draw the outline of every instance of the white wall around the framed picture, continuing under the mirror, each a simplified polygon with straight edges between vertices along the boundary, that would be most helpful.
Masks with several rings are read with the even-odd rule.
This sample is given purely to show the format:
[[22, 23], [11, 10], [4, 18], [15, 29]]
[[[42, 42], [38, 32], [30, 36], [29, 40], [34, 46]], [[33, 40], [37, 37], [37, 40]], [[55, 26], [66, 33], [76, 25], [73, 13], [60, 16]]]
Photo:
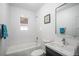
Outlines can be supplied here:
[[[49, 41], [49, 42], [61, 41], [63, 38], [63, 36], [61, 34], [58, 36], [55, 33], [55, 8], [60, 6], [61, 4], [63, 4], [63, 3], [45, 4], [37, 13], [37, 21], [38, 21], [38, 25], [39, 25], [38, 32], [40, 33], [38, 36], [43, 41]], [[44, 24], [44, 16], [47, 14], [51, 15], [51, 22], [48, 24]], [[70, 44], [77, 44], [77, 42], [79, 41], [78, 38], [74, 38], [69, 35], [64, 36], [64, 38], [66, 38], [67, 42]]]

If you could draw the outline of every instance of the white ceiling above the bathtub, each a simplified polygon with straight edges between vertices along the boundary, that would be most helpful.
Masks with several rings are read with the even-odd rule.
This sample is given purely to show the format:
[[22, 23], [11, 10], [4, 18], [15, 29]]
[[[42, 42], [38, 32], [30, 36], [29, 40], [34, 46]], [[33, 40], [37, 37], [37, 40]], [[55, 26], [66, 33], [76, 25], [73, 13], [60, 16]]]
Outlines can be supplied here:
[[10, 3], [10, 5], [22, 7], [37, 12], [45, 3]]

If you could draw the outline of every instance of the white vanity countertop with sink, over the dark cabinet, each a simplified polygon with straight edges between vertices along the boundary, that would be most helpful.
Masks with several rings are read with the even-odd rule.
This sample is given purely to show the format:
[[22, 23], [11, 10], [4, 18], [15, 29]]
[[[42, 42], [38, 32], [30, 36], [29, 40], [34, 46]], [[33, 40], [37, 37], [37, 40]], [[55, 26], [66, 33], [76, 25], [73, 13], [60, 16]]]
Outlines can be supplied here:
[[62, 45], [60, 43], [56, 43], [56, 42], [47, 43], [47, 44], [45, 44], [45, 46], [56, 51], [57, 53], [59, 53], [63, 56], [73, 56], [74, 51], [75, 51], [75, 46], [72, 46], [72, 45], [64, 46], [64, 45]]

